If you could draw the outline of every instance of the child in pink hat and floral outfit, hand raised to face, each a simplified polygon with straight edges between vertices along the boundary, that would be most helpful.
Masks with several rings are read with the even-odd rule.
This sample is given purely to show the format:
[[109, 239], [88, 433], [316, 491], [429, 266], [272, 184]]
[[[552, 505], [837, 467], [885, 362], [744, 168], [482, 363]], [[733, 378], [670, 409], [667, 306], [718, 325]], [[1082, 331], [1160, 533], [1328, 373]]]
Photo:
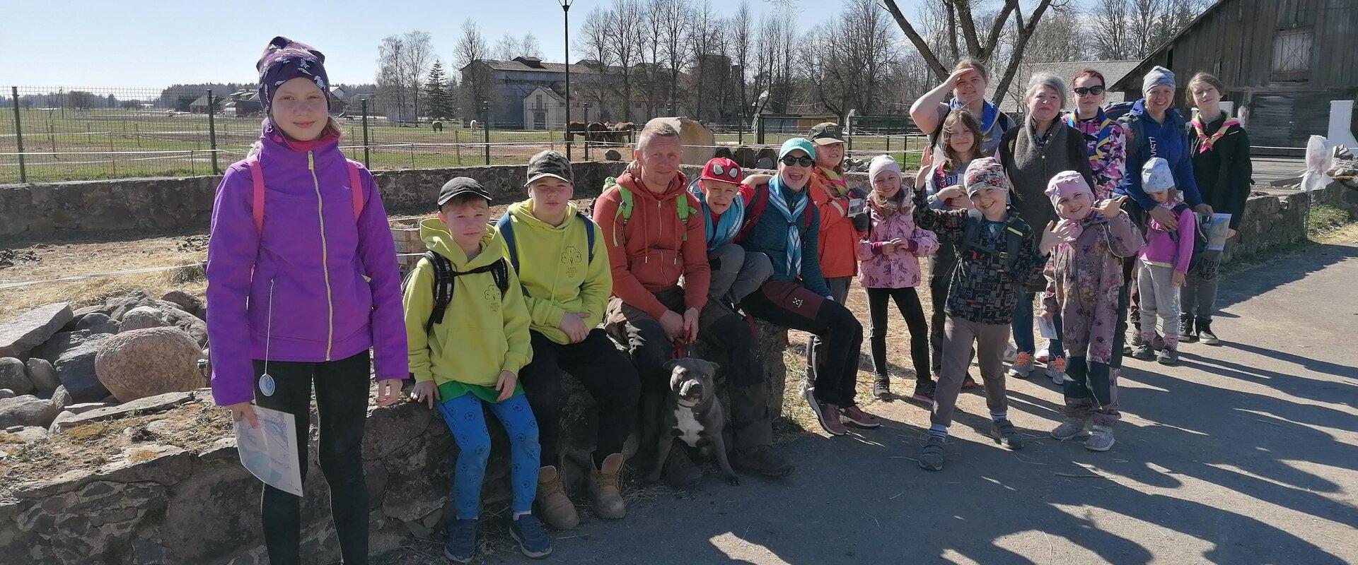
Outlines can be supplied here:
[[[1058, 172], [1047, 196], [1061, 221], [1051, 249], [1043, 318], [1061, 314], [1070, 354], [1065, 382], [1066, 420], [1051, 436], [1089, 435], [1085, 447], [1107, 451], [1118, 421], [1118, 370], [1126, 333], [1127, 291], [1122, 261], [1141, 251], [1141, 230], [1122, 211], [1126, 196], [1095, 203], [1089, 183], [1074, 171]], [[1093, 423], [1090, 432], [1089, 424]]]

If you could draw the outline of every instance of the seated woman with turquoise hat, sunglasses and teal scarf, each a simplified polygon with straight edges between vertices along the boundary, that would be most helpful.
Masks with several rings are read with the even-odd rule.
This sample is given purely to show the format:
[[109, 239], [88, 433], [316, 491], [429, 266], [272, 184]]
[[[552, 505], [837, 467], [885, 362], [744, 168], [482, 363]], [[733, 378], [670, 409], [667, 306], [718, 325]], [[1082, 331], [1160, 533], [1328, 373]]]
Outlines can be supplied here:
[[[773, 276], [741, 302], [747, 313], [820, 339], [823, 363], [807, 402], [826, 432], [845, 435], [846, 423], [876, 428], [881, 420], [857, 406], [858, 351], [862, 324], [847, 308], [835, 302], [820, 272], [818, 232], [820, 213], [807, 195], [816, 148], [794, 137], [778, 150], [778, 173], [767, 183], [747, 180], [741, 191], [754, 196], [740, 245], [746, 253], [765, 253], [773, 261]], [[756, 186], [748, 186], [758, 183]]]

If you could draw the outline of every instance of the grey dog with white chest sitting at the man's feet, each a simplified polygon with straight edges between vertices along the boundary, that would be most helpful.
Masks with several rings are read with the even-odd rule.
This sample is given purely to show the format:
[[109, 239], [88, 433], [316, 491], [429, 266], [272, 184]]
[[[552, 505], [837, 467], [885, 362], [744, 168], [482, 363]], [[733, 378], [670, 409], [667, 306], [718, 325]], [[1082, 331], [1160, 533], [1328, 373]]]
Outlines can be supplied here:
[[660, 472], [669, 458], [669, 447], [674, 446], [674, 439], [679, 438], [689, 447], [710, 444], [727, 484], [739, 485], [740, 478], [731, 470], [727, 444], [721, 438], [727, 416], [717, 400], [717, 389], [712, 383], [717, 364], [686, 358], [665, 363], [665, 370], [669, 371], [669, 394], [661, 408], [664, 427], [659, 434], [656, 465], [646, 480], [660, 480]]

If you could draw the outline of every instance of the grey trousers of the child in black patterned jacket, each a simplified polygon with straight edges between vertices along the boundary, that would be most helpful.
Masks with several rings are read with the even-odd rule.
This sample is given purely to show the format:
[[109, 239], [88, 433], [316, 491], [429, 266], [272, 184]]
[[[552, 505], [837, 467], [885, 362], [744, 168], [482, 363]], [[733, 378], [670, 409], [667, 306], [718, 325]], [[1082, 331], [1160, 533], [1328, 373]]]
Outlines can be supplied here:
[[976, 344], [976, 363], [980, 364], [980, 378], [986, 388], [986, 406], [990, 412], [1009, 409], [1005, 396], [1005, 347], [1009, 346], [1009, 324], [980, 324], [956, 316], [948, 316], [944, 322], [942, 374], [934, 389], [933, 412], [929, 423], [952, 424], [952, 412], [957, 408], [957, 394], [961, 393], [961, 379], [967, 377], [971, 363], [971, 344]]

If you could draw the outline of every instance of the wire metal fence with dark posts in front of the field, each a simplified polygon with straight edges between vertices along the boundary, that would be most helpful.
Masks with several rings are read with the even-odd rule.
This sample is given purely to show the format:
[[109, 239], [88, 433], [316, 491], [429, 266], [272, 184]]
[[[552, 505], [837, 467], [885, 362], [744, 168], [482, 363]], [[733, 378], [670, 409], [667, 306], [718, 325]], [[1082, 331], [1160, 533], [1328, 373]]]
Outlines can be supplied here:
[[[406, 119], [409, 100], [375, 93], [331, 99], [341, 148], [371, 169], [523, 164], [543, 149], [564, 150], [562, 130], [517, 123]], [[0, 88], [0, 183], [220, 173], [259, 137], [262, 114], [251, 85], [200, 88]], [[803, 127], [712, 125], [712, 149], [777, 146]], [[869, 127], [870, 126], [870, 127]], [[847, 127], [849, 154], [899, 153], [918, 163], [923, 142], [910, 127], [865, 121]], [[573, 138], [573, 159], [630, 157], [631, 135]]]

